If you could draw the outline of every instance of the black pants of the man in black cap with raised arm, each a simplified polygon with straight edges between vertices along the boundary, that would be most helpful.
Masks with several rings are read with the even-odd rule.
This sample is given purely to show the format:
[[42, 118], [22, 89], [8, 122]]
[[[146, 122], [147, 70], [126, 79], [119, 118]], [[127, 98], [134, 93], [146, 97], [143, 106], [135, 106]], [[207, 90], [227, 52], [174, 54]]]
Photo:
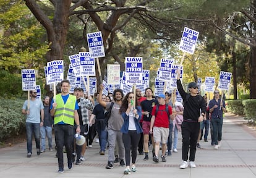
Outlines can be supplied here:
[[195, 161], [195, 151], [197, 150], [197, 138], [199, 129], [199, 122], [182, 122], [182, 160], [188, 161], [189, 158], [189, 161]]

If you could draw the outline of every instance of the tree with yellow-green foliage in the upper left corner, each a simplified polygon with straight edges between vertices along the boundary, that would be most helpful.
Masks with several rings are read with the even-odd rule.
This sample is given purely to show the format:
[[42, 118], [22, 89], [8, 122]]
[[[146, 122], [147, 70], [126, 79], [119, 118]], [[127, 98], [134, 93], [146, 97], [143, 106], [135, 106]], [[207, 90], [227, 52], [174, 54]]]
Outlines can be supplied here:
[[0, 67], [11, 73], [36, 68], [48, 50], [43, 28], [23, 1], [0, 1]]

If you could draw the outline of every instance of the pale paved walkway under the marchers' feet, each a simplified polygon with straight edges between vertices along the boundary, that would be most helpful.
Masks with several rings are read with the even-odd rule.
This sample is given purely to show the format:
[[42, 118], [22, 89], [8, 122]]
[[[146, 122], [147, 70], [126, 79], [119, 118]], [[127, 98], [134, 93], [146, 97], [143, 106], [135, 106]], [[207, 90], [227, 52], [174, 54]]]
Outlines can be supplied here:
[[[80, 166], [74, 165], [71, 170], [64, 164], [64, 173], [58, 174], [58, 160], [54, 158], [56, 151], [46, 151], [36, 156], [35, 141], [33, 155], [27, 158], [26, 143], [20, 143], [0, 149], [0, 177], [207, 177], [207, 178], [251, 178], [256, 177], [256, 130], [242, 126], [246, 122], [242, 117], [225, 114], [223, 124], [223, 140], [221, 148], [214, 150], [209, 142], [200, 142], [202, 149], [197, 149], [195, 163], [197, 168], [179, 169], [181, 164], [181, 134], [179, 135], [178, 153], [167, 157], [166, 163], [154, 163], [152, 155], [143, 161], [143, 155], [137, 156], [137, 172], [124, 175], [124, 167], [115, 163], [113, 169], [105, 169], [108, 153], [98, 154], [98, 143], [88, 148], [85, 161]], [[64, 155], [64, 163], [67, 163]]]

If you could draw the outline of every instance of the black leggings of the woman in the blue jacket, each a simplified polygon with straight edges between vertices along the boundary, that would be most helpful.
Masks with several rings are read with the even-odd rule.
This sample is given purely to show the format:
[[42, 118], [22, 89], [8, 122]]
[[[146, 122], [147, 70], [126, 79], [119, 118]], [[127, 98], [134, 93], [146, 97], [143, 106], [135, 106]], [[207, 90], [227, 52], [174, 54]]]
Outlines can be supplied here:
[[128, 134], [122, 134], [122, 142], [124, 142], [124, 150], [126, 151], [126, 166], [130, 166], [130, 148], [132, 148], [132, 164], [135, 164], [139, 141], [140, 134], [137, 134], [136, 130], [129, 130]]

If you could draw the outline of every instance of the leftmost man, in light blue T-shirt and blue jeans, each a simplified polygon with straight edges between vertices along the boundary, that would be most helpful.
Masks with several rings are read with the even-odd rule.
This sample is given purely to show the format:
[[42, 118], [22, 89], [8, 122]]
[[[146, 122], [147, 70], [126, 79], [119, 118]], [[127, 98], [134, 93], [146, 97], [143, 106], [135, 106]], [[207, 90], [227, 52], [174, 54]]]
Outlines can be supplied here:
[[[23, 103], [22, 114], [26, 115], [26, 131], [27, 131], [27, 158], [32, 156], [32, 137], [34, 135], [36, 142], [36, 154], [40, 155], [40, 127], [44, 122], [44, 107], [40, 99], [36, 99], [36, 90], [29, 91], [30, 108], [28, 108], [28, 100]], [[40, 119], [41, 118], [41, 119]]]

